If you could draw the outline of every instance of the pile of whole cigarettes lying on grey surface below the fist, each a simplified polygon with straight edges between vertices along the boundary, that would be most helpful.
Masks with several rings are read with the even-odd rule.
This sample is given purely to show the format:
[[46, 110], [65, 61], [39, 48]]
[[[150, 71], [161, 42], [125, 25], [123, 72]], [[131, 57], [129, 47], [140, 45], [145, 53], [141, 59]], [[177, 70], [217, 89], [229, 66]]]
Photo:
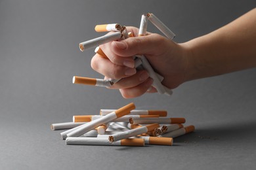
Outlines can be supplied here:
[[173, 145], [173, 138], [194, 131], [184, 118], [167, 118], [166, 110], [135, 110], [134, 103], [101, 109], [100, 115], [73, 116], [73, 122], [52, 124], [66, 144], [144, 146]]

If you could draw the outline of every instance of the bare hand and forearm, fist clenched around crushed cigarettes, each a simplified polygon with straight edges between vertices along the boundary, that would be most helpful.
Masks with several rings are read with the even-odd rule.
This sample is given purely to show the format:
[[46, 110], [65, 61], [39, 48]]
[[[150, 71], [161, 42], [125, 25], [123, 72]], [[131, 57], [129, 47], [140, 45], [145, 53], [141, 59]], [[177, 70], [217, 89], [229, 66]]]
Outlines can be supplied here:
[[135, 37], [102, 44], [108, 59], [95, 54], [91, 67], [106, 78], [121, 78], [111, 86], [124, 98], [156, 92], [145, 70], [134, 68], [133, 56], [144, 54], [154, 70], [164, 77], [162, 84], [177, 88], [180, 84], [209, 76], [223, 75], [256, 67], [256, 9], [230, 24], [184, 43], [147, 33], [136, 37], [139, 29], [127, 27]]

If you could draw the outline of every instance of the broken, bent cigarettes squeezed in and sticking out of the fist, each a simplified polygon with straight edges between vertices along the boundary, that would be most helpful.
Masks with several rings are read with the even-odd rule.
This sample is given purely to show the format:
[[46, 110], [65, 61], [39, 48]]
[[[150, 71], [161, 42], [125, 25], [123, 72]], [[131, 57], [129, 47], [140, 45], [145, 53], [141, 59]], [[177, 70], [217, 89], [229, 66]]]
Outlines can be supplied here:
[[[171, 31], [163, 22], [161, 22], [154, 14], [148, 13], [148, 14], [142, 14], [141, 22], [140, 22], [140, 28], [139, 28], [139, 36], [145, 36], [146, 35], [146, 28], [148, 25], [148, 20], [152, 22], [160, 31], [168, 38], [173, 39], [175, 37], [175, 34], [173, 31]], [[108, 59], [106, 54], [100, 49], [100, 44], [105, 44], [107, 42], [111, 41], [121, 41], [123, 39], [129, 39], [131, 37], [134, 37], [133, 33], [127, 32], [127, 29], [125, 26], [122, 26], [120, 24], [103, 24], [103, 25], [96, 25], [95, 31], [97, 32], [104, 32], [104, 31], [111, 31], [111, 33], [104, 35], [102, 37], [98, 37], [96, 39], [91, 39], [89, 41], [81, 42], [79, 44], [80, 50], [83, 52], [85, 49], [88, 48], [95, 48], [95, 52], [99, 54], [102, 58]], [[133, 59], [135, 60], [135, 68], [145, 69], [148, 71], [148, 74], [150, 77], [154, 80], [152, 86], [156, 88], [158, 93], [160, 94], [166, 94], [171, 95], [173, 92], [171, 89], [163, 86], [161, 82], [163, 81], [163, 76], [159, 75], [154, 71], [154, 69], [151, 67], [150, 63], [143, 55], [136, 55], [133, 56]], [[73, 83], [74, 84], [86, 84], [86, 85], [93, 85], [93, 86], [103, 86], [103, 87], [110, 87], [116, 82], [118, 82], [120, 79], [100, 79], [100, 78], [89, 78], [89, 77], [81, 77], [81, 76], [74, 76], [73, 77]]]

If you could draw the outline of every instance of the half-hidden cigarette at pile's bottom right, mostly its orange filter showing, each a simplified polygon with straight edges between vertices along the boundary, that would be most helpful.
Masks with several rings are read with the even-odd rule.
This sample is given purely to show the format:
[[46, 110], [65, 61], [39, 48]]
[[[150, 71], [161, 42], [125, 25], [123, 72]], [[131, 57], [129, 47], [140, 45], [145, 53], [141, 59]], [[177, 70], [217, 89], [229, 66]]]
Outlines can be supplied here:
[[158, 144], [158, 145], [173, 145], [172, 137], [137, 137], [139, 139], [144, 139], [145, 144]]

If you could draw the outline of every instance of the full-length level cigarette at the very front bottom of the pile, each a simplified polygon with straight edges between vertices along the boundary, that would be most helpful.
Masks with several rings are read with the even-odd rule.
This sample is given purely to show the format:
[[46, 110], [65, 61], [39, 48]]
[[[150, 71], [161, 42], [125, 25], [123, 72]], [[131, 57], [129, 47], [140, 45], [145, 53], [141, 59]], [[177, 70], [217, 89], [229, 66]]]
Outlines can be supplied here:
[[144, 139], [123, 139], [110, 143], [105, 137], [67, 137], [66, 144], [83, 145], [114, 145], [114, 146], [144, 146]]

